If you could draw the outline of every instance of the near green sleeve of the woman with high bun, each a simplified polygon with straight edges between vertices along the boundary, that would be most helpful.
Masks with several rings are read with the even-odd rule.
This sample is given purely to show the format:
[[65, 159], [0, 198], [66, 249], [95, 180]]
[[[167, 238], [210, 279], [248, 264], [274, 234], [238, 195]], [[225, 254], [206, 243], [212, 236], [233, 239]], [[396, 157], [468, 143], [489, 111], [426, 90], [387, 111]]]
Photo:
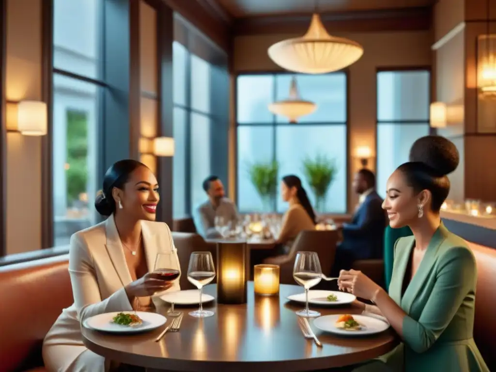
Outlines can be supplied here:
[[403, 318], [403, 339], [415, 352], [423, 353], [434, 344], [453, 319], [465, 296], [475, 288], [477, 266], [472, 252], [453, 247], [439, 258], [435, 284], [418, 320]]

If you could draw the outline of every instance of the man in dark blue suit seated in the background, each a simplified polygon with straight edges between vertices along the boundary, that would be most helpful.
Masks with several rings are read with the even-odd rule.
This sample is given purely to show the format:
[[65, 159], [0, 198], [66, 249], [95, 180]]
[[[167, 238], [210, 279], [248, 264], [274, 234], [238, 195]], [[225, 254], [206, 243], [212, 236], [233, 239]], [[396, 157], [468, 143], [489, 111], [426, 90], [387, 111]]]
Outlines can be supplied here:
[[361, 169], [353, 179], [353, 189], [360, 195], [351, 223], [342, 225], [343, 241], [338, 244], [334, 268], [350, 269], [357, 259], [382, 258], [386, 214], [382, 198], [375, 191], [375, 175]]

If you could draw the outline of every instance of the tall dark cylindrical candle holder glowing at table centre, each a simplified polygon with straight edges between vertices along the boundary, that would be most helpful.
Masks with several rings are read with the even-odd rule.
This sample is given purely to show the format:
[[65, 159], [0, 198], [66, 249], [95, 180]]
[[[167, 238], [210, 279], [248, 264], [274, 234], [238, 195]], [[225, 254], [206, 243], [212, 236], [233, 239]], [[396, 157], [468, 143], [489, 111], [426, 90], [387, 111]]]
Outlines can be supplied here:
[[217, 243], [217, 303], [246, 304], [246, 257], [245, 242]]

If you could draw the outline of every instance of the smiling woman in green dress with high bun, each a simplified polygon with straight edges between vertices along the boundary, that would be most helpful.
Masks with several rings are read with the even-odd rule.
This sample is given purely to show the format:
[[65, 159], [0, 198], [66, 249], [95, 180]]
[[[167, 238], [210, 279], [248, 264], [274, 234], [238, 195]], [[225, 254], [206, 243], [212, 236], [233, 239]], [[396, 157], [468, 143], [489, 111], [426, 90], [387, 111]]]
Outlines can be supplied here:
[[402, 339], [357, 371], [489, 372], [473, 339], [476, 261], [439, 216], [458, 151], [446, 139], [436, 141], [442, 146], [435, 164], [402, 164], [387, 182], [389, 225], [413, 233], [395, 244], [389, 294], [360, 271], [340, 273], [339, 288], [371, 300], [375, 305], [358, 305], [384, 316]]

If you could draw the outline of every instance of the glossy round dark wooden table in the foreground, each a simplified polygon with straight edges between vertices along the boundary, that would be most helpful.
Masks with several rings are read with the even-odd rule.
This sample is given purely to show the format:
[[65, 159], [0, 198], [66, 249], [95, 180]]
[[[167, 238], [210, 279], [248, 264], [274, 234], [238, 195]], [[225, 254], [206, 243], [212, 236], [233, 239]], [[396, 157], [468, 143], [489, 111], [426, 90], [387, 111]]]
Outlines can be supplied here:
[[[204, 292], [216, 297], [216, 285]], [[88, 349], [106, 358], [152, 370], [166, 371], [312, 371], [342, 367], [378, 357], [397, 345], [389, 329], [372, 337], [340, 337], [311, 327], [323, 347], [303, 337], [295, 310], [304, 305], [286, 297], [301, 293], [302, 287], [281, 285], [279, 297], [253, 294], [248, 282], [245, 305], [204, 306], [215, 312], [194, 318], [185, 311], [181, 329], [155, 338], [164, 327], [134, 335], [112, 335], [82, 327]], [[157, 311], [165, 313], [166, 308]], [[178, 308], [179, 309], [179, 308]], [[319, 308], [322, 315], [357, 313], [350, 308]], [[169, 319], [168, 319], [169, 322]]]

